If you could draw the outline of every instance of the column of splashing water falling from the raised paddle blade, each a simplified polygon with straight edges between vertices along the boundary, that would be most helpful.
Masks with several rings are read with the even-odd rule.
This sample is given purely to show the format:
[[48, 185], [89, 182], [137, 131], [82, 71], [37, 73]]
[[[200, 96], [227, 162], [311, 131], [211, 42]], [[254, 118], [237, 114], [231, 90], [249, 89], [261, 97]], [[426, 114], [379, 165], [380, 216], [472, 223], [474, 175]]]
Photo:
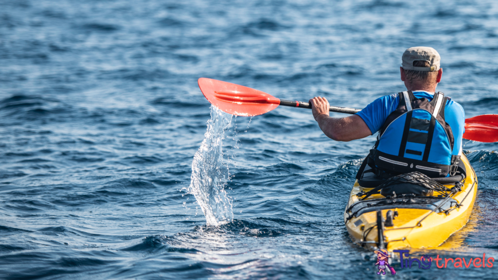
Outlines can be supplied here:
[[187, 193], [193, 194], [208, 225], [219, 226], [234, 218], [232, 199], [225, 191], [230, 174], [223, 162], [222, 141], [232, 115], [211, 106], [211, 120], [204, 140], [194, 155], [192, 176]]

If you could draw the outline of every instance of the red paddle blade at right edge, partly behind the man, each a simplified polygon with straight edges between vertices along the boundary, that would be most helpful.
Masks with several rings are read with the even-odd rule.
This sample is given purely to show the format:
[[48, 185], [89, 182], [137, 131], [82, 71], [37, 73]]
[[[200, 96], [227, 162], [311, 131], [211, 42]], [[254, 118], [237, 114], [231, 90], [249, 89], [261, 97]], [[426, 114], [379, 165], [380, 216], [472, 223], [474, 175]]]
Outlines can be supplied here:
[[465, 119], [464, 139], [498, 142], [498, 115], [481, 115]]

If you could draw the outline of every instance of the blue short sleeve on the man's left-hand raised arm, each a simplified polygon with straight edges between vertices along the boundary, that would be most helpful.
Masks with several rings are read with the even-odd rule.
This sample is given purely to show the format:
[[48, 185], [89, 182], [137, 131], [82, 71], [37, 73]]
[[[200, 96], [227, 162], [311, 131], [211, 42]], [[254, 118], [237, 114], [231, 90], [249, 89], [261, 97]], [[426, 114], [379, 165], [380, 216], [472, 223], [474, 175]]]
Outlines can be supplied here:
[[372, 135], [375, 134], [384, 125], [387, 116], [389, 116], [399, 104], [399, 95], [391, 94], [375, 99], [367, 105], [362, 111], [356, 113], [363, 119], [369, 127]]

